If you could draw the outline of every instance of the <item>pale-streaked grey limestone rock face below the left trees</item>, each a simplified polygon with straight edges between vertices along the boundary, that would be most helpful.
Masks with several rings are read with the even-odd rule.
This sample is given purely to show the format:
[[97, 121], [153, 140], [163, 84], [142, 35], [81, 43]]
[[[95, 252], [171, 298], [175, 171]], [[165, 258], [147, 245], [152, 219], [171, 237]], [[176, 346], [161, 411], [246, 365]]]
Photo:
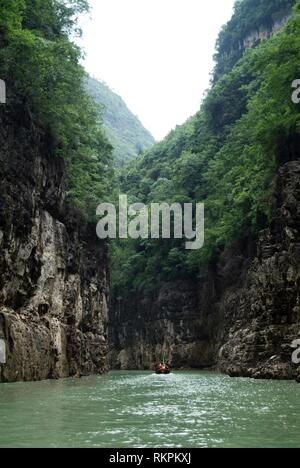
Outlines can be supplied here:
[[0, 121], [0, 380], [107, 370], [106, 249], [30, 116]]

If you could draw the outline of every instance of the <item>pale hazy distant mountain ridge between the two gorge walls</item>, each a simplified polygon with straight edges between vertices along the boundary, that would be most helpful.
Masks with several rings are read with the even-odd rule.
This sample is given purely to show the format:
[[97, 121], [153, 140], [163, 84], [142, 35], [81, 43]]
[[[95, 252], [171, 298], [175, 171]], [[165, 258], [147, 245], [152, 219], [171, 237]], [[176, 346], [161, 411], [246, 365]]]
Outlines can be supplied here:
[[123, 166], [155, 144], [153, 136], [144, 128], [138, 117], [105, 83], [89, 78], [87, 87], [96, 103], [103, 106], [104, 129], [114, 147], [117, 166]]

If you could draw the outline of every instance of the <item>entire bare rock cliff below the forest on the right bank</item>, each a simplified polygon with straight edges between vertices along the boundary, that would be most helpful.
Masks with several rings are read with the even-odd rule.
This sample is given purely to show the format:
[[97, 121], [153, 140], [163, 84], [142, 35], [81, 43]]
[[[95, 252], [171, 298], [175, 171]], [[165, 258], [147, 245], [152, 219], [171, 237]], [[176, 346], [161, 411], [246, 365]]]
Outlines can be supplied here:
[[300, 161], [277, 180], [273, 224], [224, 251], [193, 283], [119, 300], [110, 319], [113, 367], [217, 367], [232, 376], [295, 378], [300, 335]]

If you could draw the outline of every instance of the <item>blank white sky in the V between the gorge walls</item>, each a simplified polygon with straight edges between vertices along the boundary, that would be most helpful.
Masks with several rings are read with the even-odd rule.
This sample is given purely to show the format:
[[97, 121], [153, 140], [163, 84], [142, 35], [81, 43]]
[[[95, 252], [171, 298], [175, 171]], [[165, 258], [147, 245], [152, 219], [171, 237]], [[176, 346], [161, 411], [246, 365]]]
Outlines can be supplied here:
[[160, 140], [200, 107], [235, 0], [90, 0], [85, 67]]

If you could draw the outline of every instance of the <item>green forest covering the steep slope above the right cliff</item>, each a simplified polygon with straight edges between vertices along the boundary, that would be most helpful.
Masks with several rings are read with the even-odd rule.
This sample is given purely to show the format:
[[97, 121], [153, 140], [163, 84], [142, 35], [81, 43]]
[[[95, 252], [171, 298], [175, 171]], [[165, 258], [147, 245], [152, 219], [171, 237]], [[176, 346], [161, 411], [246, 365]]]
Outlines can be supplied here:
[[[242, 28], [244, 6], [256, 17], [257, 0], [244, 0], [230, 24]], [[223, 74], [196, 116], [121, 174], [122, 191], [132, 201], [204, 202], [206, 241], [202, 250], [191, 252], [181, 240], [113, 245], [116, 294], [195, 278], [235, 239], [255, 236], [270, 222], [278, 165], [297, 154], [300, 108], [291, 101], [291, 84], [299, 76], [297, 2], [289, 24]]]

